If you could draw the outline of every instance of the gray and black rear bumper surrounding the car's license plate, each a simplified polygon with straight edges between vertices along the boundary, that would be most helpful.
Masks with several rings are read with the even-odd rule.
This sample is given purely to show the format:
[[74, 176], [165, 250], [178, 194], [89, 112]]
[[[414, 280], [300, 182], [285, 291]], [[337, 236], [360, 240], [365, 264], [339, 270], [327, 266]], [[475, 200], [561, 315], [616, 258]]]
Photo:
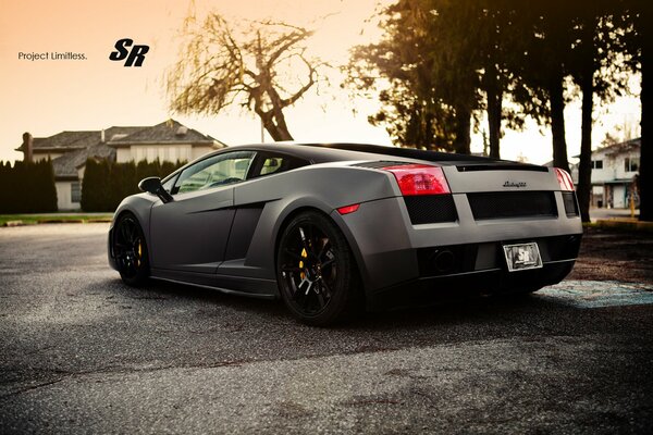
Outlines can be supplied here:
[[[494, 276], [512, 275], [506, 275], [502, 248], [506, 244], [537, 243], [544, 264], [541, 272], [513, 274], [533, 275], [539, 287], [559, 282], [578, 256], [582, 225], [579, 216], [565, 212], [562, 192], [555, 191], [554, 198], [557, 215], [535, 217], [475, 220], [466, 195], [453, 196], [457, 211], [454, 222], [415, 225], [401, 197], [361, 203], [355, 213], [341, 216], [334, 212], [332, 217], [349, 241], [368, 304], [373, 306], [389, 289], [421, 281], [435, 284], [459, 278], [469, 287], [504, 288], [506, 285], [496, 284]], [[443, 251], [449, 257], [444, 264], [436, 258]], [[558, 262], [566, 265], [556, 265]], [[558, 271], [566, 272], [558, 278]], [[494, 284], [484, 285], [485, 279]]]

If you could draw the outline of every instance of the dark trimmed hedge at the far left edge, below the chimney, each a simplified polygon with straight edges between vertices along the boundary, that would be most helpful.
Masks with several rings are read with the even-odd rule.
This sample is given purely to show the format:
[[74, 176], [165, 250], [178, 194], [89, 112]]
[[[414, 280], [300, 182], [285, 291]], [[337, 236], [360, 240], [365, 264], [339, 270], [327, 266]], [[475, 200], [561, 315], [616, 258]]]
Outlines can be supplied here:
[[0, 162], [0, 213], [57, 211], [57, 189], [50, 160]]

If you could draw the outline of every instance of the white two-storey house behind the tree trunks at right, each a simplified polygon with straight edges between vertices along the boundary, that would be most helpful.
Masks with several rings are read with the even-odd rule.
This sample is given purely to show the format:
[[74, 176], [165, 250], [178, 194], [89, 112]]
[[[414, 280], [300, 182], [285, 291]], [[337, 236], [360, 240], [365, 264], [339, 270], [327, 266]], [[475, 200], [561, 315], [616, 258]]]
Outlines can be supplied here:
[[[634, 177], [639, 174], [640, 148], [641, 138], [638, 138], [592, 151], [590, 203], [593, 207], [628, 208], [630, 195], [639, 206]], [[571, 167], [571, 177], [578, 184], [578, 164]]]

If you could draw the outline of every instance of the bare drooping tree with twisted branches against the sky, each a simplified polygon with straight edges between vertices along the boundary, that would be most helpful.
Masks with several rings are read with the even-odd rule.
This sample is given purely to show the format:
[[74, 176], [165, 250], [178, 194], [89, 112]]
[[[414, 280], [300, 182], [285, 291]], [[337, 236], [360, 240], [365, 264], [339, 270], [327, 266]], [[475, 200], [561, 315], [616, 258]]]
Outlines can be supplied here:
[[324, 65], [306, 54], [311, 30], [268, 21], [235, 33], [213, 13], [201, 23], [186, 18], [183, 34], [186, 41], [165, 76], [173, 111], [218, 114], [238, 103], [274, 140], [293, 140], [283, 110], [318, 83]]

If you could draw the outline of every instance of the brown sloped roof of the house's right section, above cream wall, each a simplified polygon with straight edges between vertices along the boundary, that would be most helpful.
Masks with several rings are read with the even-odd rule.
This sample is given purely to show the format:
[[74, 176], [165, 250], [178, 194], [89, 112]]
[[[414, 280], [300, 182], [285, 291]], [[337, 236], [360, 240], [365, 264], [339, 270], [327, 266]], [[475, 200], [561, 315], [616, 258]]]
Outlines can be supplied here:
[[138, 144], [224, 144], [188, 128], [175, 120], [168, 120], [151, 127], [144, 127], [124, 137], [115, 137], [109, 145], [114, 147]]

